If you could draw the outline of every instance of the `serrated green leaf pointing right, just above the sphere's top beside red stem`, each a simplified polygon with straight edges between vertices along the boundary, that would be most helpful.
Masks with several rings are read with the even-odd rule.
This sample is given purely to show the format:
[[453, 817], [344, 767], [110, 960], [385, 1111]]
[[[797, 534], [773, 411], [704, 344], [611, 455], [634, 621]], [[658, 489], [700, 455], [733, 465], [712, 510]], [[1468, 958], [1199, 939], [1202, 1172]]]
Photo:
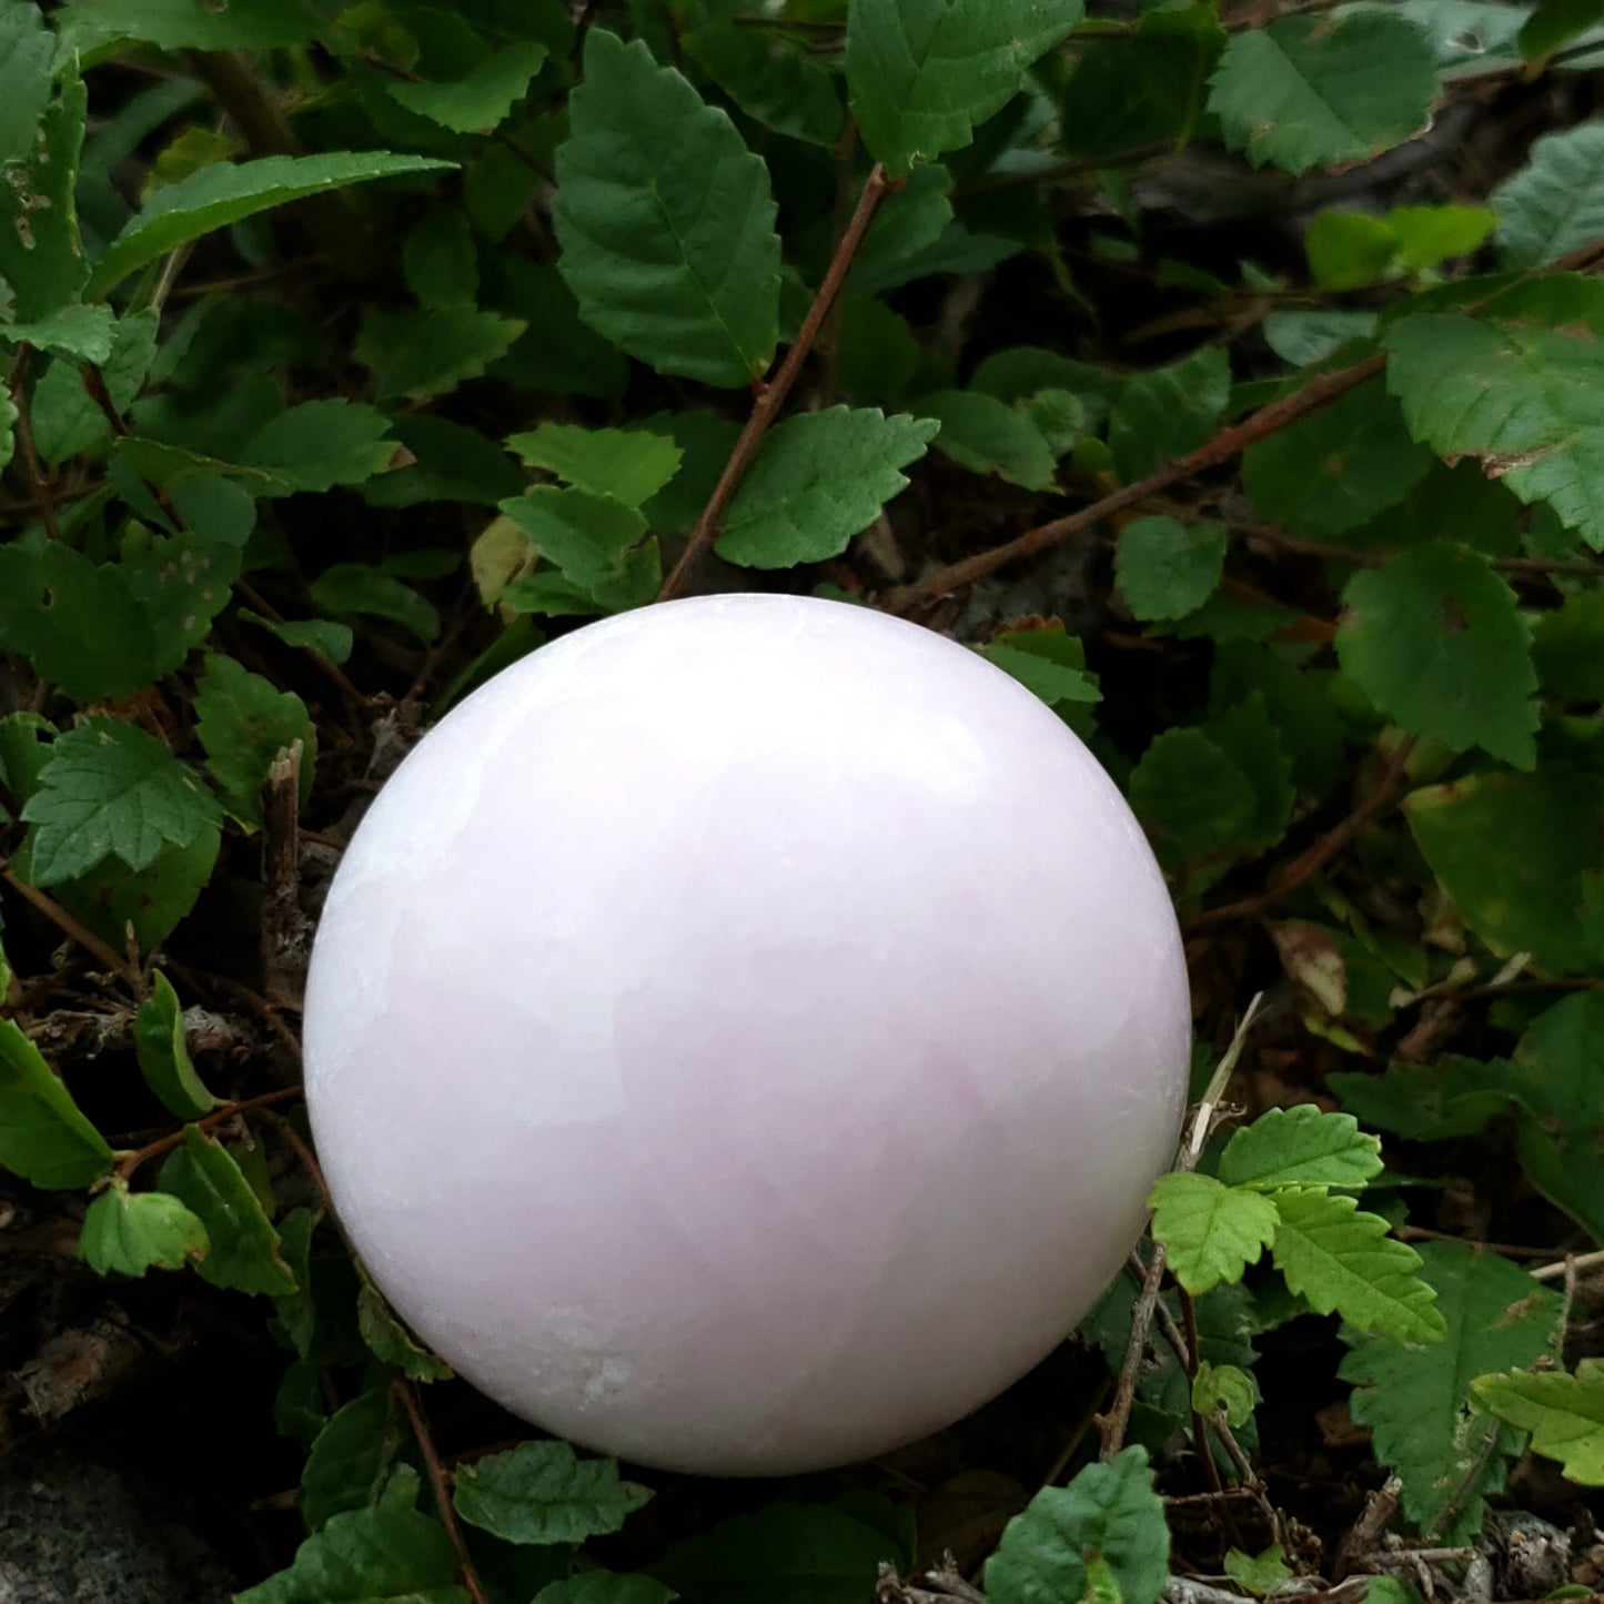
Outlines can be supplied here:
[[764, 438], [715, 550], [743, 568], [839, 557], [908, 480], [940, 425], [879, 407], [800, 412]]

